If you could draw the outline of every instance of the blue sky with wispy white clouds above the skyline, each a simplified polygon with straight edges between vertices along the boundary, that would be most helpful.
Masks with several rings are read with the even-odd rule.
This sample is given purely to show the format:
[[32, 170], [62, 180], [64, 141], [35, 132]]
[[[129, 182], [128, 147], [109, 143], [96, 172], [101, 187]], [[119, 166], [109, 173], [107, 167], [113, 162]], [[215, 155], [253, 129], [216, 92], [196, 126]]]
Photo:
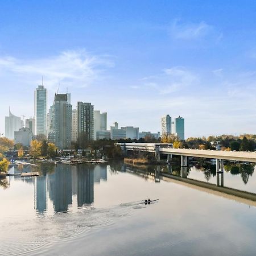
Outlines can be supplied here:
[[0, 133], [34, 115], [34, 90], [71, 93], [108, 126], [185, 137], [256, 133], [255, 1], [1, 1]]

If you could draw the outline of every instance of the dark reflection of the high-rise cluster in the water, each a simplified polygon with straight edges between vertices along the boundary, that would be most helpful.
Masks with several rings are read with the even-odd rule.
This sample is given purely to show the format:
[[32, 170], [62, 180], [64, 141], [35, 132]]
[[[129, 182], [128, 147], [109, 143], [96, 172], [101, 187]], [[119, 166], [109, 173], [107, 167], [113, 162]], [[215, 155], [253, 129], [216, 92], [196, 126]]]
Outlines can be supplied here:
[[48, 204], [54, 212], [67, 212], [69, 207], [82, 207], [94, 201], [94, 183], [107, 180], [107, 166], [69, 166], [58, 164], [53, 174], [35, 177], [35, 208], [46, 213]]

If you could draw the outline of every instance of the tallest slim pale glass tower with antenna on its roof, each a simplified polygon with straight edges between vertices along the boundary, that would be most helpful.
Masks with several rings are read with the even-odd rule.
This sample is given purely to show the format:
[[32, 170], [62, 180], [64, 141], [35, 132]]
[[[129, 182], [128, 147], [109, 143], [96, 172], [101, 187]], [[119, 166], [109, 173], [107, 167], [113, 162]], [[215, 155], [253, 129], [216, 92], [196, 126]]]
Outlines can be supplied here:
[[35, 117], [36, 117], [36, 135], [46, 135], [46, 108], [47, 91], [43, 85], [38, 85], [35, 90]]

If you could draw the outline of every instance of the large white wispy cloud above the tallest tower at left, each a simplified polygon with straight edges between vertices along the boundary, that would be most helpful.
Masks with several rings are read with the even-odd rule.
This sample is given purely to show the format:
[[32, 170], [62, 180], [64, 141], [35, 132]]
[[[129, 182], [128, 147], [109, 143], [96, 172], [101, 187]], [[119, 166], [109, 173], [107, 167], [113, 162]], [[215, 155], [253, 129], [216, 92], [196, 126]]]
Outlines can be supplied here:
[[35, 81], [42, 75], [46, 77], [47, 87], [63, 86], [86, 87], [101, 78], [107, 68], [113, 67], [113, 61], [108, 55], [93, 55], [84, 49], [64, 51], [59, 55], [43, 59], [16, 59], [11, 56], [0, 57], [0, 76], [6, 73]]

